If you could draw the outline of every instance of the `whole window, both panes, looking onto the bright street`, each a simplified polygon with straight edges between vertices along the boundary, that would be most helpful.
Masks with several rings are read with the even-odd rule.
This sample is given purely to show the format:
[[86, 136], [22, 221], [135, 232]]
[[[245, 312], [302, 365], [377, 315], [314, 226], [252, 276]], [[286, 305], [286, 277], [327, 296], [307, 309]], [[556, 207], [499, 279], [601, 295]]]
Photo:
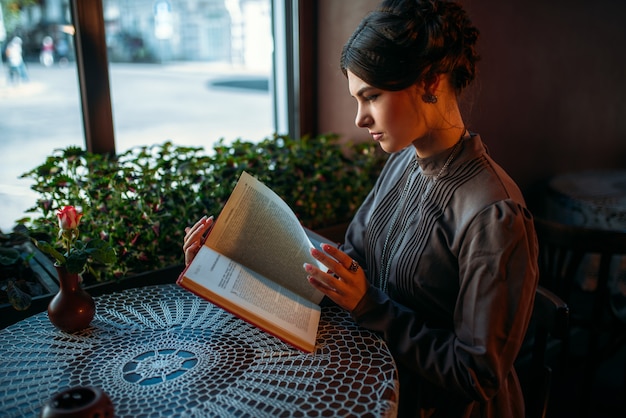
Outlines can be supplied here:
[[[0, 4], [2, 50], [19, 36], [28, 76], [10, 78], [3, 55], [0, 152], [10, 157], [0, 165], [0, 230], [9, 231], [36, 199], [18, 177], [55, 148], [84, 147], [85, 130], [69, 0]], [[260, 140], [285, 119], [271, 93], [271, 0], [102, 0], [102, 10], [118, 152], [166, 140], [206, 149], [220, 138]], [[46, 37], [52, 60], [41, 55]]]

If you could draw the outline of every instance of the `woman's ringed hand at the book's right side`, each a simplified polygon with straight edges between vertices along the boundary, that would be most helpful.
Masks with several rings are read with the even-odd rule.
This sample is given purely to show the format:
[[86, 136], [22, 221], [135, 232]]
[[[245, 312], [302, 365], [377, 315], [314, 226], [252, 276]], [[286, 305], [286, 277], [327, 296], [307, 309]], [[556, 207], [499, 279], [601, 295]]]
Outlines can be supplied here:
[[323, 244], [322, 251], [311, 249], [311, 255], [321, 261], [328, 271], [324, 272], [306, 263], [309, 283], [337, 305], [352, 312], [369, 287], [363, 269], [343, 251], [332, 245]]

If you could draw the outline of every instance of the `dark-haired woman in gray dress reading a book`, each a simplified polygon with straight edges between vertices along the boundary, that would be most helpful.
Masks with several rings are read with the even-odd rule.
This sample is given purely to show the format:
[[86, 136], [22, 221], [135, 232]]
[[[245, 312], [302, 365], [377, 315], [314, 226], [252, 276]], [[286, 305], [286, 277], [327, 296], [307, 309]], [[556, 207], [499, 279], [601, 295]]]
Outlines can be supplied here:
[[[384, 337], [398, 365], [400, 416], [524, 416], [513, 363], [537, 245], [520, 190], [459, 111], [477, 37], [454, 3], [390, 0], [341, 55], [356, 125], [391, 155], [341, 248], [312, 251], [328, 270], [304, 268]], [[188, 231], [188, 260], [211, 222]]]

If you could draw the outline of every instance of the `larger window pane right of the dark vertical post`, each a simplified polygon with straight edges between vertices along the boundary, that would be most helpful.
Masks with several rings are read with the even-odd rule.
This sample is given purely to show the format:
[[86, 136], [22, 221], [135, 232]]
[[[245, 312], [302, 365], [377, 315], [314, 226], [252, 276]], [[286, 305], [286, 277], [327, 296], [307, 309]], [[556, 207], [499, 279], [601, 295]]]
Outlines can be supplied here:
[[274, 132], [270, 0], [103, 0], [118, 151]]

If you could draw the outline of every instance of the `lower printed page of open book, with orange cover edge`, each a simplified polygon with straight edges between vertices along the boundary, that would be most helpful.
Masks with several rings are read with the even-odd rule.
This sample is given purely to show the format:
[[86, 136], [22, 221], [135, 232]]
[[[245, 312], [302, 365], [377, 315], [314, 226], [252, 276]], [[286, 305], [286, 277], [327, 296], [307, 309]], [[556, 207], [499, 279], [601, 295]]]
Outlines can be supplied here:
[[178, 284], [305, 351], [313, 351], [320, 307], [203, 246]]

